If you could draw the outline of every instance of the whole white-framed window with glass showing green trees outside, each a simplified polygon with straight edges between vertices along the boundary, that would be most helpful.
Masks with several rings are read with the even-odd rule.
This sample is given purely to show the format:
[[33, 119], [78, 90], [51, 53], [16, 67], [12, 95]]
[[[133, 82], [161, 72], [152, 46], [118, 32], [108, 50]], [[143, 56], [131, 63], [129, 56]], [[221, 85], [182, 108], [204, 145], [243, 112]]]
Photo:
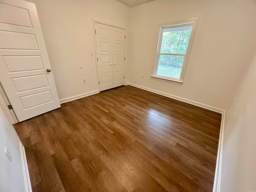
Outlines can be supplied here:
[[182, 84], [198, 18], [160, 27], [152, 78]]

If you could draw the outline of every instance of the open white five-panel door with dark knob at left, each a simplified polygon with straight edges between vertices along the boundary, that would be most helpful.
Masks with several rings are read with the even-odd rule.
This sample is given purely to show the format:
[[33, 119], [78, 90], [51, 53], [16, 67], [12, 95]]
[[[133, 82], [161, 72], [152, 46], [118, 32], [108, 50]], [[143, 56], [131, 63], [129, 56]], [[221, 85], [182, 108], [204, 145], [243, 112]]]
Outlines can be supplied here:
[[35, 4], [0, 0], [0, 82], [19, 121], [60, 107], [50, 70]]

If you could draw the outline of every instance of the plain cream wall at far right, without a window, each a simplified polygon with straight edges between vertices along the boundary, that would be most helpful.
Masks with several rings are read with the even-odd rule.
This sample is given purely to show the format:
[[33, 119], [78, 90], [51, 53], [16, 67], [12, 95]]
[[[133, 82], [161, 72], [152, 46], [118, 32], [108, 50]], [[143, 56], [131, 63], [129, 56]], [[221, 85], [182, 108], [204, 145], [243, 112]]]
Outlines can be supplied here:
[[256, 191], [255, 115], [256, 54], [230, 111], [227, 112], [220, 192]]

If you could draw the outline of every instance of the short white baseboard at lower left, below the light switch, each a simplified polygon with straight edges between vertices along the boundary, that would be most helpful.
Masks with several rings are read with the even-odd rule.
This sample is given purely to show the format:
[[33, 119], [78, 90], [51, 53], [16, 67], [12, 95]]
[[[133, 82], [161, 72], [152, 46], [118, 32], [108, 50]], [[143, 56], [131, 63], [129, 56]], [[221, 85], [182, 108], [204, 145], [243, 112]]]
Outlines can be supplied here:
[[20, 142], [20, 154], [21, 154], [21, 160], [22, 160], [22, 167], [23, 167], [23, 175], [24, 175], [24, 182], [25, 182], [26, 192], [32, 192], [25, 148], [24, 148], [24, 146], [22, 145], [21, 142]]

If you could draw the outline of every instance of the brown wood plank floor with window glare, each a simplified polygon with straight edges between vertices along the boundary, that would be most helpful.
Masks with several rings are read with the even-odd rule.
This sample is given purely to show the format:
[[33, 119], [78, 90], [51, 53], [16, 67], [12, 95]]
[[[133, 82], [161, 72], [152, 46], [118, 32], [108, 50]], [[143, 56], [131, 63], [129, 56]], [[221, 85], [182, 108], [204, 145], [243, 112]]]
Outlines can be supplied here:
[[221, 114], [131, 86], [15, 124], [33, 192], [212, 191]]

